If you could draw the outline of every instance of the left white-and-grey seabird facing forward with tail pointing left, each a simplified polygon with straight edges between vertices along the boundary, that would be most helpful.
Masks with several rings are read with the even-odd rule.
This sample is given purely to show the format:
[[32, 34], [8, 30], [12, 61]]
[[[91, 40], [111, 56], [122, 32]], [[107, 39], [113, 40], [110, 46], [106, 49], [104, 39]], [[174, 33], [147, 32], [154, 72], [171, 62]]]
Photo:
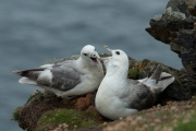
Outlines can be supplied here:
[[68, 60], [13, 73], [23, 76], [19, 82], [40, 86], [63, 98], [95, 92], [103, 79], [99, 55], [91, 45], [81, 50], [77, 60]]

